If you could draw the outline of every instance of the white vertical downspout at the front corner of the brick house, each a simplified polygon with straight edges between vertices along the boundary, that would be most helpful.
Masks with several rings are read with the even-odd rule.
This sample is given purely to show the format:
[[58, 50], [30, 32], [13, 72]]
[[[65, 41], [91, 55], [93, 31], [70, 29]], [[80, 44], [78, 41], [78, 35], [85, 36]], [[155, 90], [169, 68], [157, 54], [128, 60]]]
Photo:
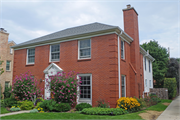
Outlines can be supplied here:
[[119, 98], [121, 97], [121, 72], [120, 72], [120, 46], [119, 46], [119, 37], [121, 36], [121, 33], [118, 35], [118, 79], [119, 79]]

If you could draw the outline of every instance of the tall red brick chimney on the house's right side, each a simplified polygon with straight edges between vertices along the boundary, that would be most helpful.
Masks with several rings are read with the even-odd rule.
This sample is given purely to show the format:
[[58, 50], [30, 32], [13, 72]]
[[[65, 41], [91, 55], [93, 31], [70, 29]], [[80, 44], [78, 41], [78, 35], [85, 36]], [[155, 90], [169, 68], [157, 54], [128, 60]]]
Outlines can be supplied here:
[[[140, 87], [138, 87], [138, 84], [142, 83], [141, 75], [140, 75], [140, 61], [142, 58], [140, 58], [140, 47], [139, 47], [139, 29], [138, 29], [138, 13], [136, 10], [131, 7], [131, 5], [127, 5], [127, 8], [123, 9], [123, 15], [124, 15], [124, 31], [133, 38], [133, 42], [130, 44], [130, 62], [132, 66], [134, 67], [136, 74], [133, 73], [131, 70], [130, 77], [131, 77], [131, 96], [139, 97], [141, 94], [139, 94]], [[140, 82], [141, 80], [141, 82]]]

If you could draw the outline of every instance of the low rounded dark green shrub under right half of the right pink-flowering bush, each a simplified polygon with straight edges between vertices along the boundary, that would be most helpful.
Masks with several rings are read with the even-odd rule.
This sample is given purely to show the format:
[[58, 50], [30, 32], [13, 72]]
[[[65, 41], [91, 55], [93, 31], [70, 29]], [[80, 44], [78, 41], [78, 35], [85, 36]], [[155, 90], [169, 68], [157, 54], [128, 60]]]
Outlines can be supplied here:
[[55, 109], [58, 112], [66, 112], [71, 109], [71, 106], [68, 103], [57, 103]]

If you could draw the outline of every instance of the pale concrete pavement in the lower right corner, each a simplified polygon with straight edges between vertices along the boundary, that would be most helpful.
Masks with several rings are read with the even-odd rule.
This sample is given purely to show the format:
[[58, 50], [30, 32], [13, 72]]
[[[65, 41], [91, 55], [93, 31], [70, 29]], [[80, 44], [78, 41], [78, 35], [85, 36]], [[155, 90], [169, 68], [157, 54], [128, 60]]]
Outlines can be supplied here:
[[180, 120], [180, 96], [171, 102], [157, 120]]

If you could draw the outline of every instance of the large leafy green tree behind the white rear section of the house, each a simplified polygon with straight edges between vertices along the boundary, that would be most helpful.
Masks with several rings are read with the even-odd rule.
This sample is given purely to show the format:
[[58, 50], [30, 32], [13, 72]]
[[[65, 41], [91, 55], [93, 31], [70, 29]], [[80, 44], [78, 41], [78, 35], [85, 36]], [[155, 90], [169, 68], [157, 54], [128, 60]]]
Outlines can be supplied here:
[[145, 50], [149, 50], [149, 54], [155, 58], [153, 65], [153, 79], [156, 80], [156, 85], [154, 87], [163, 87], [163, 80], [165, 74], [168, 70], [168, 57], [169, 54], [167, 49], [160, 46], [157, 41], [151, 40], [149, 43], [144, 43], [141, 45]]

